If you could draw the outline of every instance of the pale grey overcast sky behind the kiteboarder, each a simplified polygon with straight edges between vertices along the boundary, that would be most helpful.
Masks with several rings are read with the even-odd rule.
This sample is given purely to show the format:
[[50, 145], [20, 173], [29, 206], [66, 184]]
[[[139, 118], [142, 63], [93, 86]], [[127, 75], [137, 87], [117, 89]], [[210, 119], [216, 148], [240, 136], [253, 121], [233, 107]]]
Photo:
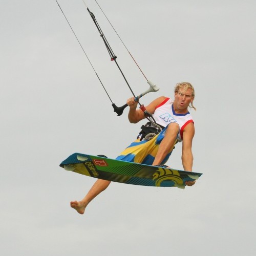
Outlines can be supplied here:
[[[82, 0], [58, 0], [116, 105], [131, 97]], [[94, 0], [95, 14], [138, 95], [145, 78]], [[115, 158], [140, 131], [117, 117], [55, 0], [1, 0], [0, 251], [13, 255], [254, 255], [254, 0], [98, 0], [159, 92], [196, 91], [195, 186], [112, 183], [86, 214], [70, 208], [95, 182], [59, 163]], [[182, 168], [181, 145], [169, 159]]]

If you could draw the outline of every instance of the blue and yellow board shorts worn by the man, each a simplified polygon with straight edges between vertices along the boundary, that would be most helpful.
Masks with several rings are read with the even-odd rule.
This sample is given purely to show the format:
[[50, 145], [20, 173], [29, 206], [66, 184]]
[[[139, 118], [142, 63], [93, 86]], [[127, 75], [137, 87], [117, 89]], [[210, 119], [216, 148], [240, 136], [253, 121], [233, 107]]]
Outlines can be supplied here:
[[[126, 162], [152, 165], [158, 152], [159, 145], [164, 138], [166, 129], [167, 126], [151, 140], [135, 140], [130, 146], [126, 147], [125, 150], [121, 152], [116, 159]], [[161, 164], [165, 164], [167, 162], [173, 152], [176, 143], [177, 139]]]

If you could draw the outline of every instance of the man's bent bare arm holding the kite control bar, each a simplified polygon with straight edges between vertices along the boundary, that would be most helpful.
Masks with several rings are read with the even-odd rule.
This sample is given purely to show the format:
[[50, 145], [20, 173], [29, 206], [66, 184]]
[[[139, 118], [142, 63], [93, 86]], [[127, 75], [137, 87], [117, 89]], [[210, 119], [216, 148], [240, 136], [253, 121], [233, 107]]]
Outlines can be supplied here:
[[[146, 106], [147, 112], [153, 114], [155, 112], [156, 106], [159, 105], [165, 99], [166, 97], [161, 96], [153, 100], [149, 105]], [[134, 98], [127, 99], [126, 103], [130, 106], [128, 119], [131, 123], [137, 123], [145, 118], [143, 111], [141, 109], [137, 109], [138, 102], [135, 101]]]

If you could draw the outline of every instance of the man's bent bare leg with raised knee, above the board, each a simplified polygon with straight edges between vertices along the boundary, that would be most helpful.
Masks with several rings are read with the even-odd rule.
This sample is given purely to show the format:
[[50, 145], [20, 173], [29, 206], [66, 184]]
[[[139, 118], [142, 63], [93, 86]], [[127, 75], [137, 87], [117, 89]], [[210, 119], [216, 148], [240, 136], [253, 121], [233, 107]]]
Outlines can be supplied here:
[[177, 135], [180, 131], [180, 126], [177, 123], [170, 123], [165, 131], [164, 138], [160, 142], [155, 160], [152, 165], [161, 164], [166, 155], [172, 150], [174, 147], [174, 143], [177, 139]]

